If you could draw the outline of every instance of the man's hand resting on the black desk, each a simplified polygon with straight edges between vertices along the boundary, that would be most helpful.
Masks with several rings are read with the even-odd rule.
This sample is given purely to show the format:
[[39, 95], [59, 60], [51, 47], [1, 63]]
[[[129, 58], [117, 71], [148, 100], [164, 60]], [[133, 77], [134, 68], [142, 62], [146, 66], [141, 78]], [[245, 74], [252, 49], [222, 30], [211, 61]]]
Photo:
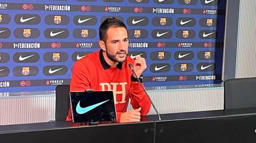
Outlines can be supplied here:
[[141, 108], [123, 112], [120, 117], [120, 122], [139, 122], [141, 121]]

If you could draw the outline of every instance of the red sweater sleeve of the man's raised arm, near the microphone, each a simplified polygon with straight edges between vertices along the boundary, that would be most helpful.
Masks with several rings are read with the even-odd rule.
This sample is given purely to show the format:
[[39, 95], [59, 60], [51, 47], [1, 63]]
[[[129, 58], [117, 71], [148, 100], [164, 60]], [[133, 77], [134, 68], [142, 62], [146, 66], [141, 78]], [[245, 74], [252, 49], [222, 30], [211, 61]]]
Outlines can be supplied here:
[[151, 103], [148, 96], [146, 96], [146, 93], [142, 89], [141, 85], [139, 85], [139, 82], [131, 82], [130, 99], [133, 109], [138, 109], [141, 107], [142, 116], [146, 116], [146, 114], [149, 113]]

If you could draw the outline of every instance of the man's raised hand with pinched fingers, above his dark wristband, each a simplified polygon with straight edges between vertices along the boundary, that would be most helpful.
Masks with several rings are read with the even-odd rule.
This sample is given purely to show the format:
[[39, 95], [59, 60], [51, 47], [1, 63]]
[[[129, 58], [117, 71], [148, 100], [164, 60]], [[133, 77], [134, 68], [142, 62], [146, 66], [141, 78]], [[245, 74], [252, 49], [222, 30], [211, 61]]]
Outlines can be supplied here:
[[[138, 77], [140, 77], [142, 75], [142, 73], [147, 68], [145, 58], [142, 58], [140, 55], [135, 57], [135, 62], [134, 62], [133, 68], [134, 68], [136, 75]], [[135, 77], [135, 76], [133, 75], [133, 77]]]

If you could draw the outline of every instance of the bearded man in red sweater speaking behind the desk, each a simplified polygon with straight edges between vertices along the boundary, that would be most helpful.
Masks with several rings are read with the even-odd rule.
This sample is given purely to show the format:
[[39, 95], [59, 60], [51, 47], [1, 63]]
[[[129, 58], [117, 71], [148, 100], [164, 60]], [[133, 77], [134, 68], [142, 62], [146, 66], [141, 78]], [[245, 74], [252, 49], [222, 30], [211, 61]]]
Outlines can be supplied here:
[[[145, 59], [127, 56], [128, 34], [125, 24], [116, 18], [107, 18], [99, 27], [100, 50], [76, 61], [72, 70], [70, 91], [111, 90], [114, 93], [117, 122], [138, 122], [150, 110], [150, 101], [129, 68], [134, 67], [138, 77], [146, 70]], [[134, 110], [127, 110], [131, 100]], [[72, 120], [71, 109], [67, 121]]]

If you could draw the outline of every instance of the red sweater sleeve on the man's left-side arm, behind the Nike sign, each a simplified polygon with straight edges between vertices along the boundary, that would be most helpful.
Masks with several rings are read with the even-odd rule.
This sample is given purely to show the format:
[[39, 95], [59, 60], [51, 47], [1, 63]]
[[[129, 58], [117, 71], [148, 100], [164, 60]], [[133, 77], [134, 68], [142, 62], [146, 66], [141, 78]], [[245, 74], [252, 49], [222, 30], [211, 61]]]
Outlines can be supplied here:
[[[75, 62], [72, 69], [72, 77], [70, 83], [70, 92], [83, 92], [86, 89], [90, 89], [90, 72], [87, 65], [79, 60]], [[69, 104], [68, 116], [66, 121], [72, 121], [71, 105]]]

